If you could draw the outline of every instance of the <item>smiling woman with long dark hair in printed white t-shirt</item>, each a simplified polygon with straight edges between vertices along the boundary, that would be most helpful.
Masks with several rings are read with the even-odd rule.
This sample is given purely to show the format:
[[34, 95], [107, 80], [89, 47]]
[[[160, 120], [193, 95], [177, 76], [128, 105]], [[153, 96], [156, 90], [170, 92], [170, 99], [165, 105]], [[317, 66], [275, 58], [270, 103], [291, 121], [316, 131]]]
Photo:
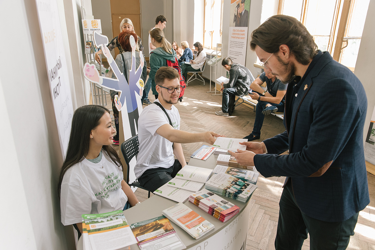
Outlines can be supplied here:
[[73, 115], [66, 159], [60, 172], [61, 222], [82, 232], [82, 214], [101, 214], [137, 205], [123, 180], [110, 111], [99, 105], [78, 108]]

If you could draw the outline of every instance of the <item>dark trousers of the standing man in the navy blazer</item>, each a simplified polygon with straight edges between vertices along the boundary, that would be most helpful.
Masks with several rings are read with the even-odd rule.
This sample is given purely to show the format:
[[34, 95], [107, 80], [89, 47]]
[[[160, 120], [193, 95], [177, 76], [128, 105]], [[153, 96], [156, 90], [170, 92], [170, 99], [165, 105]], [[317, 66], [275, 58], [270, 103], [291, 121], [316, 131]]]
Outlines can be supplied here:
[[291, 180], [284, 187], [279, 206], [276, 250], [300, 250], [308, 233], [310, 250], [344, 250], [349, 244], [350, 235], [354, 235], [359, 213], [343, 222], [313, 219], [302, 213], [296, 204]]

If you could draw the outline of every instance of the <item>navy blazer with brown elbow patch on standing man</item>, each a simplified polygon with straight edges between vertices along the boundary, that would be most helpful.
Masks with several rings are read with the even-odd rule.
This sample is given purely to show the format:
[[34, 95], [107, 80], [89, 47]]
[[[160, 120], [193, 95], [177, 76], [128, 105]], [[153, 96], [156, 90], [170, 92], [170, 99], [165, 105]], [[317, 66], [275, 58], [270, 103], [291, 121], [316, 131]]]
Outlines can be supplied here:
[[301, 81], [288, 84], [285, 99], [287, 130], [264, 141], [268, 154], [255, 155], [257, 170], [264, 177], [290, 177], [306, 215], [326, 222], [349, 219], [370, 202], [361, 82], [328, 52], [318, 51]]

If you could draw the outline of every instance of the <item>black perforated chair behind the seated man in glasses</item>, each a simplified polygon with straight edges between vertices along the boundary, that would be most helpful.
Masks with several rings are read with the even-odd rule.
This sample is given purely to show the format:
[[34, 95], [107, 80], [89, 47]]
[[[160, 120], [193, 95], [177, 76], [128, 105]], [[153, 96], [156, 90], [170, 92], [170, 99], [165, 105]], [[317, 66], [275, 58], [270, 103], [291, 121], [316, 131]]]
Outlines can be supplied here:
[[[127, 165], [126, 183], [129, 186], [139, 187], [141, 189], [147, 190], [141, 186], [139, 181], [134, 181], [133, 183], [129, 183], [129, 171], [130, 171], [129, 163], [130, 163], [130, 160], [132, 160], [134, 156], [136, 157], [138, 155], [138, 152], [139, 152], [138, 135], [135, 135], [132, 138], [127, 139], [121, 144], [121, 153], [124, 156], [124, 159]], [[148, 191], [148, 198], [150, 198], [150, 191], [149, 190], [147, 191]]]

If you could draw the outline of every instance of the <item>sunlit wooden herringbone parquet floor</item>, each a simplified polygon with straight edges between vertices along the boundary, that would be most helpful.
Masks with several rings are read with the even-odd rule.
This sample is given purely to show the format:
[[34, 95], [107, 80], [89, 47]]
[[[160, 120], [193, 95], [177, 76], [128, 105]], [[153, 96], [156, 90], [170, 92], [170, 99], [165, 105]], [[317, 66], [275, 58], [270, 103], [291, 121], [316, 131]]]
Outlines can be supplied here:
[[[180, 112], [181, 130], [192, 133], [214, 131], [227, 137], [243, 138], [252, 132], [255, 112], [240, 105], [236, 107], [231, 117], [215, 115], [221, 107], [222, 96], [212, 96], [206, 93], [209, 90], [208, 81], [203, 86], [202, 82], [192, 81], [185, 90], [182, 102], [175, 106]], [[150, 92], [150, 101], [154, 98]], [[266, 115], [258, 141], [270, 138], [283, 132], [282, 120]], [[204, 143], [197, 142], [183, 144], [183, 151], [187, 162], [190, 155]], [[282, 193], [282, 184], [285, 177], [258, 179], [258, 188], [250, 201], [251, 214], [247, 238], [247, 250], [275, 249], [274, 241], [278, 224], [279, 199]], [[348, 249], [350, 250], [375, 250], [375, 176], [368, 174], [370, 190], [370, 204], [360, 212], [354, 236], [351, 237]], [[140, 201], [147, 199], [147, 192], [138, 189], [135, 194]], [[151, 194], [152, 195], [152, 194]], [[305, 240], [303, 250], [309, 249], [309, 238]]]

